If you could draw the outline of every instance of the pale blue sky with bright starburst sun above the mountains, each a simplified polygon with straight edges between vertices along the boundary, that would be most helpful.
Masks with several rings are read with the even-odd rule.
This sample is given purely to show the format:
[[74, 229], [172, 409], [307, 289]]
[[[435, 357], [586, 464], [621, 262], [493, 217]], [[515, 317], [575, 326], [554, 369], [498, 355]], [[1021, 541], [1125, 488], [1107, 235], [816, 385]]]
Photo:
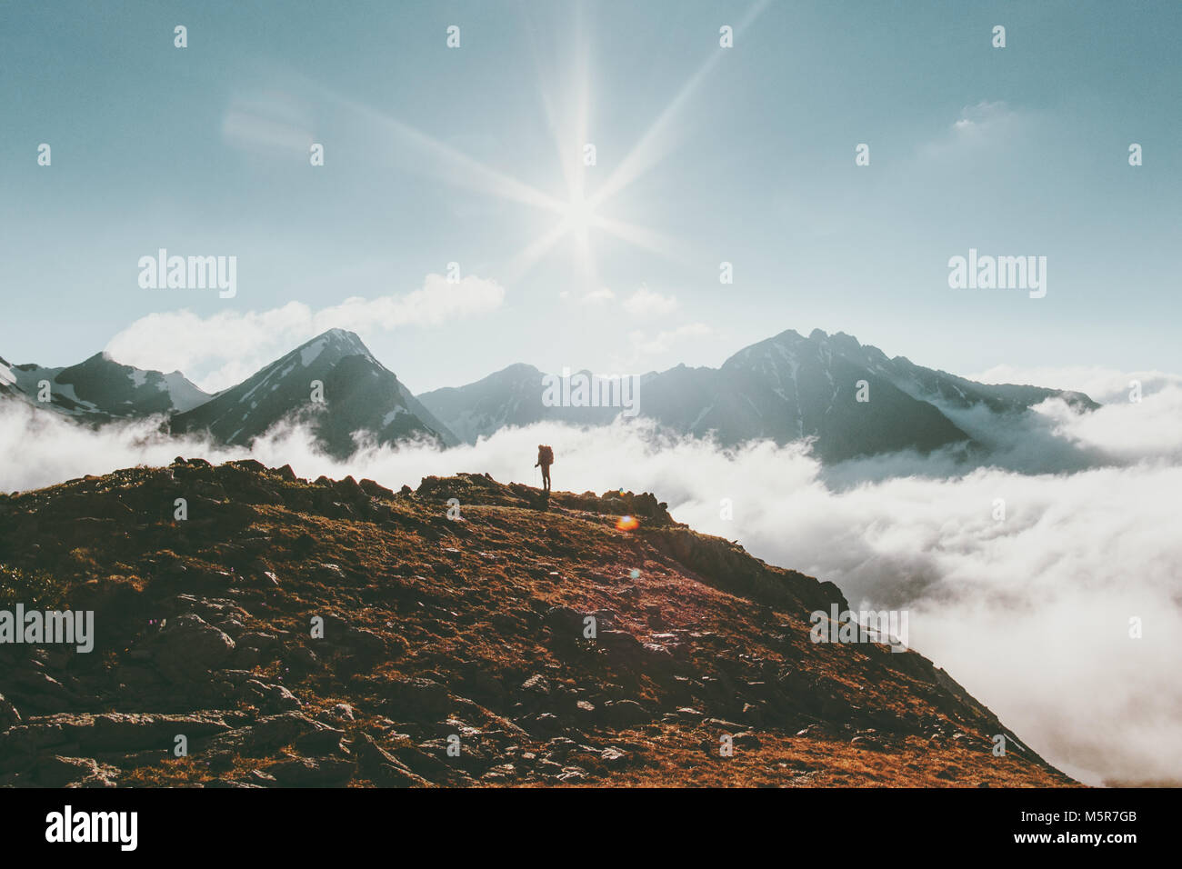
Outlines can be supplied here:
[[[0, 356], [220, 389], [342, 326], [421, 393], [819, 328], [1182, 372], [1180, 38], [1176, 2], [0, 2]], [[142, 287], [160, 248], [235, 294]], [[1046, 296], [950, 288], [970, 248]]]

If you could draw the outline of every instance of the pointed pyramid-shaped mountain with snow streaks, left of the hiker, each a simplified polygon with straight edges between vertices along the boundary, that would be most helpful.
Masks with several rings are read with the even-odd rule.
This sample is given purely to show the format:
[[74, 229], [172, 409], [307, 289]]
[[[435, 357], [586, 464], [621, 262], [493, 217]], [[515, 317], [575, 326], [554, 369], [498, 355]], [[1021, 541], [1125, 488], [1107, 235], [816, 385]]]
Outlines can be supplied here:
[[188, 413], [173, 432], [208, 432], [222, 443], [246, 445], [284, 419], [311, 424], [330, 453], [353, 452], [355, 432], [378, 443], [427, 435], [459, 443], [448, 427], [374, 358], [353, 332], [332, 329], [298, 346]]

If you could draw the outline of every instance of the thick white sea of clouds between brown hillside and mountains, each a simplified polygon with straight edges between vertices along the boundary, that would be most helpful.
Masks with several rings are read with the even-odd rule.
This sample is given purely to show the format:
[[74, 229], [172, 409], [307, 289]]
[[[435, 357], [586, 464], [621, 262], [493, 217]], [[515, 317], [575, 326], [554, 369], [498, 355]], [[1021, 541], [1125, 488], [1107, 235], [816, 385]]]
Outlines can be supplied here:
[[[1004, 423], [955, 414], [991, 447], [987, 460], [948, 450], [831, 467], [806, 445], [723, 449], [638, 421], [541, 423], [447, 450], [366, 447], [338, 462], [293, 423], [251, 449], [226, 449], [162, 436], [152, 422], [84, 429], [6, 401], [0, 491], [167, 465], [178, 454], [249, 455], [305, 478], [352, 474], [391, 488], [461, 471], [538, 485], [537, 445], [550, 443], [559, 489], [651, 491], [699, 531], [836, 582], [856, 609], [908, 609], [911, 646], [1064, 771], [1090, 784], [1176, 784], [1182, 382], [1164, 376], [1130, 402], [1128, 380], [1110, 380], [1111, 390], [1096, 391], [1112, 403], [1091, 414], [1057, 400]], [[1132, 617], [1142, 638], [1130, 637]]]

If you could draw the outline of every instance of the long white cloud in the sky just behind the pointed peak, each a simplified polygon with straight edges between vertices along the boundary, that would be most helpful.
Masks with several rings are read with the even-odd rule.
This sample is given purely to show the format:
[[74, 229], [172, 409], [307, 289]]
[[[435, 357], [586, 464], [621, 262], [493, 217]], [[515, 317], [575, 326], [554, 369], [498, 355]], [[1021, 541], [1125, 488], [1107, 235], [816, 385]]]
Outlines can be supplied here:
[[189, 310], [151, 313], [116, 335], [106, 352], [126, 365], [184, 371], [202, 389], [216, 391], [329, 329], [364, 337], [375, 330], [435, 326], [487, 313], [504, 300], [505, 287], [495, 280], [468, 275], [449, 283], [441, 274], [428, 274], [413, 292], [357, 296], [319, 311], [290, 301], [267, 311], [227, 310], [209, 317]]

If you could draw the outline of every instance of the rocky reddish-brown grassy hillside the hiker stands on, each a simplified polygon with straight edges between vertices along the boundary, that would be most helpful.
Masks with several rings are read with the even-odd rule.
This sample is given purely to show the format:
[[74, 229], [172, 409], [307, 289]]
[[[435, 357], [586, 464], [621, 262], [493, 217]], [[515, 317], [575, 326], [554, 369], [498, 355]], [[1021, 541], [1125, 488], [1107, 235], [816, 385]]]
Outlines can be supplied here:
[[647, 493], [178, 459], [0, 494], [18, 602], [96, 640], [0, 644], [0, 785], [1074, 784], [922, 655], [811, 642], [837, 586]]

